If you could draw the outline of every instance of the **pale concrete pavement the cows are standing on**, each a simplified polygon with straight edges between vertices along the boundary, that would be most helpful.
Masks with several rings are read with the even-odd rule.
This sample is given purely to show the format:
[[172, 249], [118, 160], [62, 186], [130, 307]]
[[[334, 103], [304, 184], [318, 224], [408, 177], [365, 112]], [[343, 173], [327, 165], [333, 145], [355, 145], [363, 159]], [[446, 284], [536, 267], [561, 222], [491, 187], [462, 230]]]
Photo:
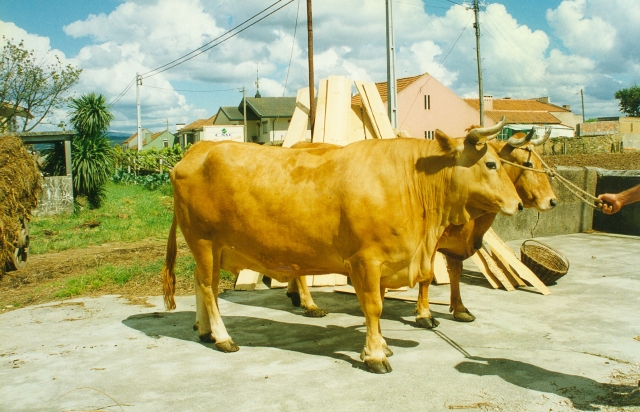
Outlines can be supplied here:
[[[440, 326], [427, 331], [412, 303], [386, 300], [387, 375], [366, 371], [357, 299], [332, 288], [312, 289], [330, 312], [321, 319], [282, 289], [220, 295], [232, 354], [199, 342], [193, 296], [173, 312], [159, 296], [153, 307], [103, 296], [4, 313], [0, 410], [640, 410], [640, 238], [538, 240], [571, 262], [549, 296], [491, 289], [468, 261], [462, 297], [475, 322], [432, 305]], [[448, 293], [432, 286], [431, 298]]]

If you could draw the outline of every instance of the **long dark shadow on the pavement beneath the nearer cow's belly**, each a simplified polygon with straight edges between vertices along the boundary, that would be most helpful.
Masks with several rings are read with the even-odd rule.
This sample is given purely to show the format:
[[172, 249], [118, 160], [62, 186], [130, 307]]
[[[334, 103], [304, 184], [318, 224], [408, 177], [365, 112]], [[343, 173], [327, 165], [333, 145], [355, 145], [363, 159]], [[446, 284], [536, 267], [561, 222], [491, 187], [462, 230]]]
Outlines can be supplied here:
[[[122, 323], [139, 330], [147, 336], [159, 338], [166, 336], [216, 349], [213, 343], [202, 343], [192, 328], [195, 312], [148, 313], [128, 317]], [[365, 326], [315, 326], [278, 322], [247, 316], [223, 316], [227, 330], [234, 342], [242, 347], [257, 346], [295, 351], [308, 355], [326, 356], [350, 363], [354, 368], [366, 370], [358, 356], [341, 352], [362, 351], [365, 341]], [[412, 340], [385, 338], [389, 347], [411, 348], [418, 345]]]

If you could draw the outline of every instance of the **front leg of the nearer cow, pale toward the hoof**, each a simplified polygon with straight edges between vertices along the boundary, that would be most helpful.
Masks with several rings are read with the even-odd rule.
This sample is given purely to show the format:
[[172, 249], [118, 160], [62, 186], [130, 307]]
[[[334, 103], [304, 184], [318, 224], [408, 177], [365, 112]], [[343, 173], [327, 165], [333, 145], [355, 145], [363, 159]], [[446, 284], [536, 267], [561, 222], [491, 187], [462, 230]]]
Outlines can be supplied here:
[[358, 295], [360, 309], [367, 324], [365, 346], [360, 354], [370, 371], [391, 372], [391, 365], [384, 353], [384, 339], [380, 331], [382, 298], [380, 297], [380, 268], [366, 261], [350, 262], [351, 283]]

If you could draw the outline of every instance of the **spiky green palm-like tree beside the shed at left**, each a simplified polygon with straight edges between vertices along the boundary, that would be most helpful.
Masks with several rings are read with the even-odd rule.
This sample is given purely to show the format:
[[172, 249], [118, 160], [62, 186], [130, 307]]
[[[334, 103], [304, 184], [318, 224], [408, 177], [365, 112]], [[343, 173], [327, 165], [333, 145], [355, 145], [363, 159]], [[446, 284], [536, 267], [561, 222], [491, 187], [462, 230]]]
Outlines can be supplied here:
[[[99, 208], [104, 186], [114, 173], [115, 153], [106, 135], [114, 117], [104, 96], [93, 92], [71, 99], [69, 107], [69, 121], [77, 132], [71, 146], [74, 194], [86, 197], [91, 208]], [[64, 170], [63, 150], [58, 145], [43, 153], [47, 170]]]

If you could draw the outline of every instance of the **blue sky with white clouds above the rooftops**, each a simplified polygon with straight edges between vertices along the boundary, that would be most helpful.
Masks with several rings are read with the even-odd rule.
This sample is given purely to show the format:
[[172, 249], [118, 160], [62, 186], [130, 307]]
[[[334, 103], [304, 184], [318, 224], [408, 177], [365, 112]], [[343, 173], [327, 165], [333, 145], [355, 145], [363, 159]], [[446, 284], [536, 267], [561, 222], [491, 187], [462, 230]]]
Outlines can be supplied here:
[[[136, 72], [145, 73], [196, 49], [274, 2], [0, 0], [0, 31], [16, 41], [24, 39], [39, 55], [57, 54], [65, 63], [82, 67], [76, 95], [96, 91], [113, 101]], [[477, 97], [473, 13], [462, 3], [394, 0], [399, 77], [429, 72], [459, 96]], [[582, 89], [587, 118], [619, 115], [613, 94], [640, 77], [640, 2], [482, 4], [486, 94], [549, 96], [553, 103], [569, 104], [581, 114]], [[313, 12], [316, 79], [345, 75], [386, 80], [384, 2], [315, 1]], [[306, 64], [306, 2], [294, 0], [201, 56], [145, 78], [143, 124], [156, 131], [168, 122], [172, 129], [176, 123], [209, 117], [220, 106], [237, 105], [243, 86], [248, 95], [255, 93], [257, 69], [263, 96], [295, 96], [306, 85]], [[135, 129], [134, 89], [114, 105], [113, 130]], [[50, 122], [65, 116], [54, 113]]]

